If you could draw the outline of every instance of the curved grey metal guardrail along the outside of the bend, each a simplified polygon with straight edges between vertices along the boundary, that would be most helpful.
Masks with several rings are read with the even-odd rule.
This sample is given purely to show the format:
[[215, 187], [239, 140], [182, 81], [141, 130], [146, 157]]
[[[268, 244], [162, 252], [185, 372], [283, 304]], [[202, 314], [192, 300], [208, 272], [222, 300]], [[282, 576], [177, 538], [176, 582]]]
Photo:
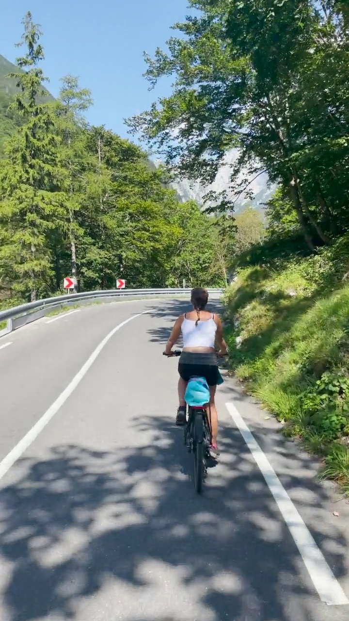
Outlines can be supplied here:
[[[36, 302], [20, 304], [6, 311], [0, 311], [0, 322], [7, 321], [7, 327], [0, 330], [0, 337], [17, 330], [22, 325], [30, 324], [37, 319], [41, 319], [49, 312], [60, 309], [61, 307], [73, 306], [75, 304], [85, 304], [90, 300], [106, 301], [117, 299], [118, 297], [152, 297], [152, 296], [173, 296], [189, 294], [190, 289], [106, 289], [103, 291], [84, 291], [83, 293], [71, 293], [64, 296], [47, 297]], [[207, 289], [209, 294], [222, 294], [223, 289]]]

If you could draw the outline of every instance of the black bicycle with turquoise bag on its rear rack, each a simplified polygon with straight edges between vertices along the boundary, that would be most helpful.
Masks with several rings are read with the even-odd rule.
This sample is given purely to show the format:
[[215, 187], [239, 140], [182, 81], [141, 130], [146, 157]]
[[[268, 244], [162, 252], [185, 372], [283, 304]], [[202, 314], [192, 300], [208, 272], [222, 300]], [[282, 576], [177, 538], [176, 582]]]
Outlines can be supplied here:
[[[175, 350], [167, 357], [180, 356], [181, 353], [180, 350]], [[199, 397], [193, 399], [191, 393], [193, 394], [195, 389], [199, 392]], [[184, 428], [184, 444], [188, 447], [189, 453], [194, 453], [194, 483], [198, 494], [202, 491], [202, 482], [207, 473], [206, 460], [210, 457], [209, 446], [212, 442], [211, 417], [209, 419], [207, 414], [208, 403], [209, 387], [206, 379], [193, 376], [189, 379], [186, 389], [188, 420]]]

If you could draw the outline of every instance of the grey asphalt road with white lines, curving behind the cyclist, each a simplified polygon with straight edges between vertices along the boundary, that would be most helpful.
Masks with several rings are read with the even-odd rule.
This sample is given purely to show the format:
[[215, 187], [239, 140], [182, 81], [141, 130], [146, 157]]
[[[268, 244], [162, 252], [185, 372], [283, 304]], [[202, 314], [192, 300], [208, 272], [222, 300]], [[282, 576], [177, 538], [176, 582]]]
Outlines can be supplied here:
[[1, 621], [349, 618], [348, 505], [230, 379], [196, 495], [162, 356], [185, 308], [84, 307], [0, 339]]

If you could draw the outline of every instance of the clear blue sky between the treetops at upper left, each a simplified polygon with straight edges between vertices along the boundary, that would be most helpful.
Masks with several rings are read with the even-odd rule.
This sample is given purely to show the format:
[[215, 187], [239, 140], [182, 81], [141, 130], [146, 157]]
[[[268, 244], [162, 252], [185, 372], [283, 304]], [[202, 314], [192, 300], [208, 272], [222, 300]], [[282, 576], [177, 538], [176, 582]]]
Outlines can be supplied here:
[[41, 24], [47, 88], [56, 96], [60, 78], [79, 76], [92, 91], [88, 120], [129, 137], [123, 120], [170, 93], [171, 80], [148, 91], [143, 51], [165, 47], [170, 27], [188, 14], [187, 0], [9, 0], [1, 13], [0, 53], [14, 62], [27, 11]]

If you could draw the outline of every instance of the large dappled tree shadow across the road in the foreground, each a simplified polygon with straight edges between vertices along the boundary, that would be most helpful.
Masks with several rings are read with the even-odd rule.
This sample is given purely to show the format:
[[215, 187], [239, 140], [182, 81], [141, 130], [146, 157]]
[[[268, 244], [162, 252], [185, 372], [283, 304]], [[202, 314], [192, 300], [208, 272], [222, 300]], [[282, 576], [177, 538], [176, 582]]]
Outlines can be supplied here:
[[[181, 430], [168, 417], [132, 424], [137, 438], [152, 433], [151, 445], [59, 446], [22, 460], [24, 476], [0, 492], [8, 620], [312, 618], [296, 547], [238, 432], [222, 429], [219, 467], [197, 496]], [[335, 545], [340, 577], [339, 534]], [[111, 591], [120, 612], [90, 614]]]

